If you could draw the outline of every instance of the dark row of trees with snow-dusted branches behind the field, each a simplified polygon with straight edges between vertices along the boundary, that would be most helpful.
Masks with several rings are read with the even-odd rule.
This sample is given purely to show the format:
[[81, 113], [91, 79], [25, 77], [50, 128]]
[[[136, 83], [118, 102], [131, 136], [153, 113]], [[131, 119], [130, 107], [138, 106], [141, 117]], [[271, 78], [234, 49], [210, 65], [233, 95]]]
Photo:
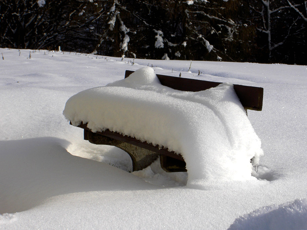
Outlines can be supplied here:
[[1, 0], [0, 46], [307, 64], [306, 0]]

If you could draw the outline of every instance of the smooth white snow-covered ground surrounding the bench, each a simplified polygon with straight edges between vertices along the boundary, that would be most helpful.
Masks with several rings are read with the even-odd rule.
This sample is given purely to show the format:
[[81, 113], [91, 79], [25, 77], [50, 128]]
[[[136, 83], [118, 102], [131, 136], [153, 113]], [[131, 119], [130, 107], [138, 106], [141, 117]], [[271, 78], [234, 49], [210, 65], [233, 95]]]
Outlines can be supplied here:
[[[0, 53], [1, 230], [307, 229], [307, 66]], [[264, 151], [253, 179], [193, 189], [157, 163], [127, 173], [126, 153], [68, 124], [71, 96], [144, 66], [264, 88], [263, 111], [248, 111]]]

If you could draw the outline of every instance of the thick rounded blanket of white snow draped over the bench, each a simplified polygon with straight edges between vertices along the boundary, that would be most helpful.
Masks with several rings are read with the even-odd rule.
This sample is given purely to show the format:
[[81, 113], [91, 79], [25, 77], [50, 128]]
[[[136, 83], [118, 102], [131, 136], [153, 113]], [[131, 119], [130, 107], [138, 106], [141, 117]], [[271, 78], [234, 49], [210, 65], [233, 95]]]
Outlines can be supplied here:
[[263, 154], [233, 85], [183, 92], [160, 84], [145, 67], [130, 77], [82, 91], [63, 111], [73, 125], [109, 129], [181, 153], [188, 185], [252, 179], [250, 159]]

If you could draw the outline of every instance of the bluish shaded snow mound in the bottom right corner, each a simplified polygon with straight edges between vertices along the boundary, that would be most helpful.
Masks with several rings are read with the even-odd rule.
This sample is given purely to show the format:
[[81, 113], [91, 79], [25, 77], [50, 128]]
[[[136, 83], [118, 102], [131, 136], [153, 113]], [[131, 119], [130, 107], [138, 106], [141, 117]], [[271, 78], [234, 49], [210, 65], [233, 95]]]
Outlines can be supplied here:
[[273, 205], [237, 218], [228, 230], [305, 230], [307, 199]]

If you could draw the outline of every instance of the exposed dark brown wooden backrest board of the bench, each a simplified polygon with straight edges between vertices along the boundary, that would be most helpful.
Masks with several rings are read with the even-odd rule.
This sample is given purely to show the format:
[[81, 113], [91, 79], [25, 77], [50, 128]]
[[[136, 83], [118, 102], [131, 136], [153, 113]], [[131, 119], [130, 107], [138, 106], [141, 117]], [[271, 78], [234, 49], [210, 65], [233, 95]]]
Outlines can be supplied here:
[[[134, 71], [126, 70], [125, 78]], [[172, 77], [157, 74], [162, 85], [175, 90], [197, 92], [216, 87], [222, 82], [189, 79], [184, 77]], [[247, 110], [262, 110], [263, 88], [245, 85], [233, 85], [243, 107]]]

